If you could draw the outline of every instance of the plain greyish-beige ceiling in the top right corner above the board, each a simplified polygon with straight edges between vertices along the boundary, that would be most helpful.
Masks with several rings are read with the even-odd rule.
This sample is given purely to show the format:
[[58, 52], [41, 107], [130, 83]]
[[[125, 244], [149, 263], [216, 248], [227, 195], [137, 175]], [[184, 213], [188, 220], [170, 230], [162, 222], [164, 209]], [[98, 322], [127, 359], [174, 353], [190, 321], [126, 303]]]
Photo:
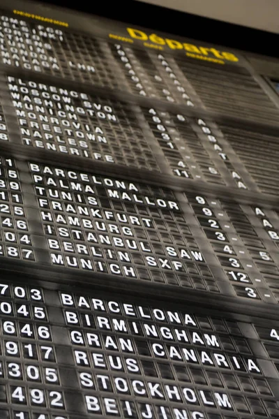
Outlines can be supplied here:
[[279, 0], [144, 0], [144, 3], [279, 34]]

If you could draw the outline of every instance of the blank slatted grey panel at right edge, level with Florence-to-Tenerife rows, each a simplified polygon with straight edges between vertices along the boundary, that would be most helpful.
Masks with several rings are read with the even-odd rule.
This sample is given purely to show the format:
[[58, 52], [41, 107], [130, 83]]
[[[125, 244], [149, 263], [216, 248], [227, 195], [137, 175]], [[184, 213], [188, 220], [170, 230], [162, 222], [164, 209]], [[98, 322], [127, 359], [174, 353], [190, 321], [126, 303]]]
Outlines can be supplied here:
[[259, 191], [278, 195], [278, 132], [221, 125], [225, 139], [239, 156]]

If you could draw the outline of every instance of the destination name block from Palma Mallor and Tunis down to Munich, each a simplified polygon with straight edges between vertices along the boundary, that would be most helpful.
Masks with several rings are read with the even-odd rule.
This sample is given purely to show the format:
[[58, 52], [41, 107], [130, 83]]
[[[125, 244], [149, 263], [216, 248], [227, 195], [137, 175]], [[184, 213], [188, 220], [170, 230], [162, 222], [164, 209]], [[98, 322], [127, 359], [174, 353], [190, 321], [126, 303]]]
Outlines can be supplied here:
[[171, 190], [29, 166], [54, 265], [219, 292]]

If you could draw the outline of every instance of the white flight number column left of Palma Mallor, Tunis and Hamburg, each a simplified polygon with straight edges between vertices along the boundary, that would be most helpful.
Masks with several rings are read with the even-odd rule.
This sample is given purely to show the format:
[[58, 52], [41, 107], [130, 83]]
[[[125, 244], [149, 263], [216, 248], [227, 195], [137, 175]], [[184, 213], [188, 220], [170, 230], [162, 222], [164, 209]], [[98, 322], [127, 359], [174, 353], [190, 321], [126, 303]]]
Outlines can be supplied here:
[[[24, 163], [0, 157], [0, 256], [34, 262], [40, 260], [41, 228], [38, 210], [29, 188], [30, 177]], [[8, 261], [8, 259], [6, 259]]]

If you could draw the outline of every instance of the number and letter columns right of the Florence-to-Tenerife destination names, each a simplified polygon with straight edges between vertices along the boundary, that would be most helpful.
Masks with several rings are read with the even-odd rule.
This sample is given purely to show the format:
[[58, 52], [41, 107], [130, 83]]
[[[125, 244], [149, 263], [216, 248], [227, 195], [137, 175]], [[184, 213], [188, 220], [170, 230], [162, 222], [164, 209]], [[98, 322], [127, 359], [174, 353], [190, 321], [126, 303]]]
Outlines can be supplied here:
[[234, 153], [224, 149], [223, 133], [206, 118], [142, 108], [172, 174], [215, 184], [248, 189]]

